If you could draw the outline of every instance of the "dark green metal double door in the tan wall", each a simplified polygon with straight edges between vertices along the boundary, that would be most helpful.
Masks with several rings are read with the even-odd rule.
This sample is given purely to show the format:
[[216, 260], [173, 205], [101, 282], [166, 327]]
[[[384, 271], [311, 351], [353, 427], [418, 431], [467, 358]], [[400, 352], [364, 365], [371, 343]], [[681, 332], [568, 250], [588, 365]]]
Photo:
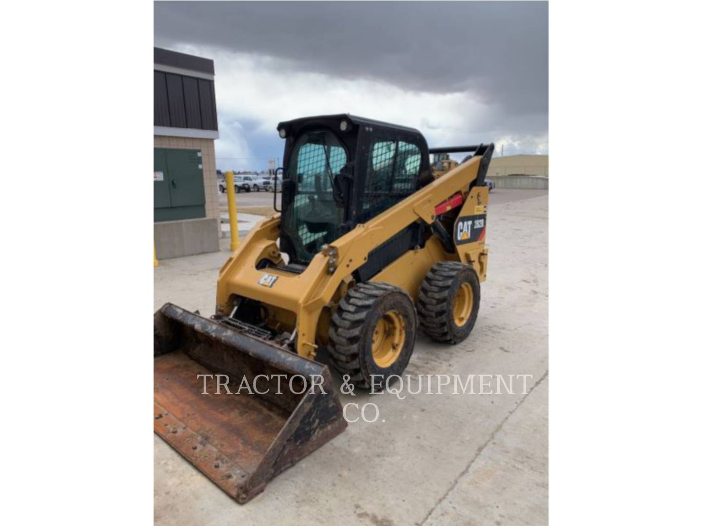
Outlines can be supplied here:
[[154, 221], [205, 217], [199, 150], [154, 148]]

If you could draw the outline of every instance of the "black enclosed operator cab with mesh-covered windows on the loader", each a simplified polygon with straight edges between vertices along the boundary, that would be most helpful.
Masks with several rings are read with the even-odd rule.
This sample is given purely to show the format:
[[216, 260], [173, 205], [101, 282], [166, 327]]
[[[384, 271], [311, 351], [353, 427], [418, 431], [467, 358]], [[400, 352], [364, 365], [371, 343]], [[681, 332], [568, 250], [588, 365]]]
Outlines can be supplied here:
[[293, 264], [307, 265], [322, 245], [432, 181], [427, 142], [414, 128], [340, 114], [277, 129], [285, 139], [280, 248]]

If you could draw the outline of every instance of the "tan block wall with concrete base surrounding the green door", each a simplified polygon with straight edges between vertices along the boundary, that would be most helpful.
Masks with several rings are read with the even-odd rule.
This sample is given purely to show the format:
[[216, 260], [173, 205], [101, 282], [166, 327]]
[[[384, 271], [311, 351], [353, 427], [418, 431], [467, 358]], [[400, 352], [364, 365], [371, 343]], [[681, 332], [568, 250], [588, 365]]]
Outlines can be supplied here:
[[204, 219], [154, 223], [157, 258], [168, 259], [202, 252], [218, 252], [221, 227], [214, 140], [154, 135], [154, 148], [199, 149], [202, 152], [205, 187]]

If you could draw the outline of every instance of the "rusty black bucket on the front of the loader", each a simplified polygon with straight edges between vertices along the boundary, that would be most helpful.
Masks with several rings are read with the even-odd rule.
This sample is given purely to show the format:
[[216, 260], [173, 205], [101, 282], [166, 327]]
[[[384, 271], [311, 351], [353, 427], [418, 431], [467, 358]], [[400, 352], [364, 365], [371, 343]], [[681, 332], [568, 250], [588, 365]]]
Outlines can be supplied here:
[[[254, 379], [262, 394], [239, 390]], [[173, 304], [154, 314], [154, 431], [240, 504], [346, 426], [326, 365]]]

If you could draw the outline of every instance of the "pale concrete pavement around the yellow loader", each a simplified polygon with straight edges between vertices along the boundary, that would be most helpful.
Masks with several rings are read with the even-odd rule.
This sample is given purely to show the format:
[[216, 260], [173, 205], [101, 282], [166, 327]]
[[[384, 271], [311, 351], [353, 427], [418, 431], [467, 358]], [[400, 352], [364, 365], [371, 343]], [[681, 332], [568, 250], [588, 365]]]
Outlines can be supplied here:
[[[239, 206], [272, 197], [239, 196]], [[546, 524], [548, 192], [497, 189], [490, 202], [488, 281], [475, 329], [455, 346], [420, 335], [405, 373], [526, 375], [524, 390], [519, 380], [511, 394], [341, 396], [342, 403], [375, 403], [384, 422], [350, 424], [244, 506], [154, 436], [155, 522]], [[211, 315], [227, 257], [162, 262], [154, 269], [154, 309], [169, 301]]]

